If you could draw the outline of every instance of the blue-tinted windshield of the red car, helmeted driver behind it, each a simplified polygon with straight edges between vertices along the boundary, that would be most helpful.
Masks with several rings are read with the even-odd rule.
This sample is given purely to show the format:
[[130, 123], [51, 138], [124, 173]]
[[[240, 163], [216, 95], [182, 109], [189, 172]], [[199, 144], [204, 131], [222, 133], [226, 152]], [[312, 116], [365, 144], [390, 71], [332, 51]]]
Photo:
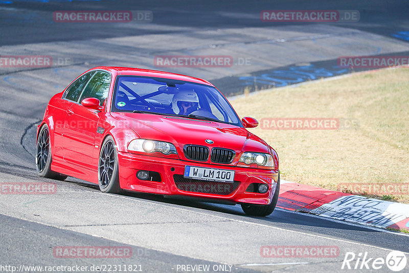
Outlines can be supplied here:
[[216, 88], [172, 79], [118, 77], [111, 111], [158, 113], [242, 127], [236, 112]]

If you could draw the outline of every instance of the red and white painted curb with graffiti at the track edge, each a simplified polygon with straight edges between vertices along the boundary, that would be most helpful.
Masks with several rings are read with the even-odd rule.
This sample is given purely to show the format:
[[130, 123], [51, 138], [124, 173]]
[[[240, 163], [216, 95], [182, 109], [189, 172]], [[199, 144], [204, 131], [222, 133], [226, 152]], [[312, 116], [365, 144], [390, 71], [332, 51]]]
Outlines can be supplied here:
[[351, 223], [409, 230], [409, 204], [367, 198], [281, 180], [277, 207]]

